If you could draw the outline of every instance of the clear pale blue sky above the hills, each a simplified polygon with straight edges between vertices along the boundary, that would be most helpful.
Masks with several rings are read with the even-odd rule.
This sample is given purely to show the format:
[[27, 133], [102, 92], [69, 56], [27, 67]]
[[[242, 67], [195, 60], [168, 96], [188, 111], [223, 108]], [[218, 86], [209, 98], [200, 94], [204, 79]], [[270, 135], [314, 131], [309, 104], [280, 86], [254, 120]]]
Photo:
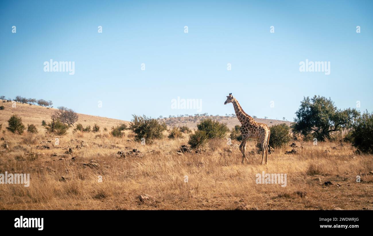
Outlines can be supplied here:
[[[228, 93], [248, 114], [272, 119], [292, 121], [303, 96], [315, 94], [338, 108], [359, 100], [360, 111], [373, 111], [373, 1], [0, 4], [0, 95], [6, 97], [52, 100], [54, 107], [124, 120], [231, 114], [233, 106], [223, 105]], [[75, 74], [44, 72], [50, 59], [74, 61]], [[300, 72], [305, 59], [329, 61], [330, 75]], [[201, 112], [171, 109], [178, 96], [202, 99]]]

